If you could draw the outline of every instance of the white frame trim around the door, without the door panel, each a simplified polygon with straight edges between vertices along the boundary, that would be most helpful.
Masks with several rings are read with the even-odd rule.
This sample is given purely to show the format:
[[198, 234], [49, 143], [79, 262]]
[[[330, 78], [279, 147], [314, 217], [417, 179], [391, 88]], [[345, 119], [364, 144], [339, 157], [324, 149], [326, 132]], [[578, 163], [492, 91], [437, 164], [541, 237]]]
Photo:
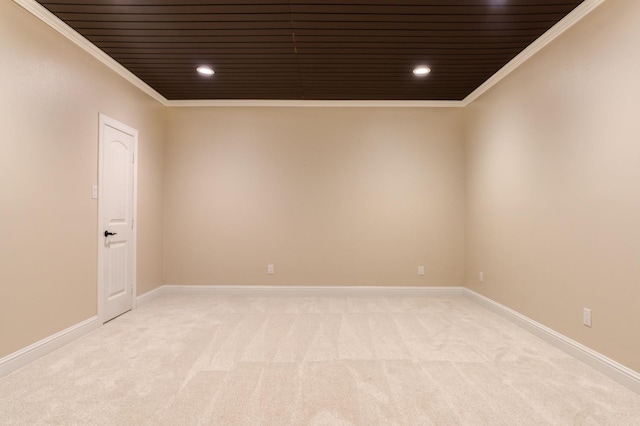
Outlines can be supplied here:
[[103, 153], [104, 153], [104, 126], [110, 126], [123, 133], [127, 133], [133, 136], [133, 232], [131, 236], [131, 247], [133, 249], [133, 283], [131, 292], [131, 307], [136, 308], [136, 264], [138, 258], [137, 251], [137, 238], [138, 238], [138, 131], [133, 127], [129, 127], [111, 117], [100, 113], [99, 115], [99, 136], [98, 136], [98, 320], [100, 324], [104, 324], [105, 319], [105, 299], [104, 299], [104, 217], [105, 204], [102, 202], [102, 188], [104, 188], [104, 170], [102, 167]]

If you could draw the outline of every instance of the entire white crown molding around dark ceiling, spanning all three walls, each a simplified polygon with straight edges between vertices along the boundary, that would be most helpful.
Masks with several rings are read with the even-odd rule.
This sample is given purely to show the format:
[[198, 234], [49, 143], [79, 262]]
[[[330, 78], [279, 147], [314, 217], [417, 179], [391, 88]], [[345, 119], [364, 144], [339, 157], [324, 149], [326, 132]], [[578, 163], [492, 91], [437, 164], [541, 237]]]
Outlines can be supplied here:
[[491, 76], [487, 81], [471, 92], [462, 101], [321, 101], [321, 100], [183, 100], [170, 101], [155, 89], [142, 81], [131, 71], [120, 65], [109, 55], [98, 49], [93, 43], [68, 26], [53, 13], [35, 0], [13, 0], [33, 16], [62, 34], [73, 43], [84, 49], [94, 58], [111, 68], [131, 84], [151, 96], [166, 107], [396, 107], [396, 108], [455, 108], [465, 107], [495, 86], [500, 80], [522, 65], [525, 61], [539, 52], [547, 44], [555, 40], [560, 34], [572, 27], [606, 0], [586, 0], [565, 16], [556, 25], [534, 41], [529, 47], [520, 52], [509, 63]]

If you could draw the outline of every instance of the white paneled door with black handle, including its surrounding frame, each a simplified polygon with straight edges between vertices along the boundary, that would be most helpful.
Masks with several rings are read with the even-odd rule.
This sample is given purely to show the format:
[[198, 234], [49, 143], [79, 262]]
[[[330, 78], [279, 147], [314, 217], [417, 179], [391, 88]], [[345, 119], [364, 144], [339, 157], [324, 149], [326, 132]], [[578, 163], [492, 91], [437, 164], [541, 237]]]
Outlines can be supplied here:
[[98, 316], [107, 322], [133, 308], [138, 132], [100, 114], [98, 166]]

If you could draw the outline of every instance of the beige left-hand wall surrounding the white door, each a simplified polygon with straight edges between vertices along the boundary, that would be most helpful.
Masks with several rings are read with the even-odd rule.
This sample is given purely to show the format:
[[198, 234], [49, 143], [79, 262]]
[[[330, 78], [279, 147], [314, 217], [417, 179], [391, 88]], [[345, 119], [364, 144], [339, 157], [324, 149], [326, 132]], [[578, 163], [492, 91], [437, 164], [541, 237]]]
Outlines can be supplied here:
[[0, 357], [96, 314], [98, 113], [139, 130], [138, 291], [161, 284], [162, 106], [0, 2]]

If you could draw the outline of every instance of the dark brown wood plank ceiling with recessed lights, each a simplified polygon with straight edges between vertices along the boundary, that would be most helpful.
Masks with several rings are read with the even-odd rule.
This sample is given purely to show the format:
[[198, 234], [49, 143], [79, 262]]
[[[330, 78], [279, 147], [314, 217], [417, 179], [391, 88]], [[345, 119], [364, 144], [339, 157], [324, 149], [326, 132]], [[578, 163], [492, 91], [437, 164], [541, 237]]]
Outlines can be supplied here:
[[169, 100], [461, 100], [582, 1], [39, 3]]

